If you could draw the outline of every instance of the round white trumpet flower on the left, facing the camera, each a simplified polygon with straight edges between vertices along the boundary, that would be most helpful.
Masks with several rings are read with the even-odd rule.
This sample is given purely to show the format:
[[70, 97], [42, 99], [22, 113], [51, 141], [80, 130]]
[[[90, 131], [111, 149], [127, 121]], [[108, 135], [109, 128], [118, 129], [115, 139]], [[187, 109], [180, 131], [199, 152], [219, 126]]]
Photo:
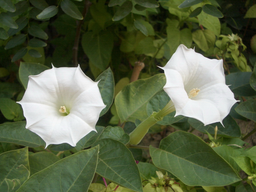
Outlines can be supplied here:
[[29, 76], [21, 104], [26, 128], [49, 144], [76, 143], [91, 131], [105, 108], [98, 82], [81, 68], [61, 67]]

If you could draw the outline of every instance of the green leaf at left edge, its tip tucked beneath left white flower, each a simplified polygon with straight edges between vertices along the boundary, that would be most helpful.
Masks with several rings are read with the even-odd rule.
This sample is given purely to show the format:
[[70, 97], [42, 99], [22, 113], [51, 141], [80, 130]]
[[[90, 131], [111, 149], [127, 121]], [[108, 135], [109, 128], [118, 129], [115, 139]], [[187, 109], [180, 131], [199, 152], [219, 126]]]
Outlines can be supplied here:
[[45, 146], [44, 140], [25, 126], [26, 121], [0, 124], [0, 141], [28, 147]]

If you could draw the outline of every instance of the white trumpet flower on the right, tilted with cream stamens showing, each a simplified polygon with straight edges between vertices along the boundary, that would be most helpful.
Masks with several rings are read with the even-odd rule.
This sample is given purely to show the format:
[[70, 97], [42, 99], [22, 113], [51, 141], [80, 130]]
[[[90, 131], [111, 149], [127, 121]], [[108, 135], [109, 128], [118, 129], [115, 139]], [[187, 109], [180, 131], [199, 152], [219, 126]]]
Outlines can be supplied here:
[[220, 122], [237, 102], [225, 84], [222, 60], [208, 59], [180, 45], [162, 68], [164, 91], [176, 109], [175, 116], [195, 118], [204, 125]]

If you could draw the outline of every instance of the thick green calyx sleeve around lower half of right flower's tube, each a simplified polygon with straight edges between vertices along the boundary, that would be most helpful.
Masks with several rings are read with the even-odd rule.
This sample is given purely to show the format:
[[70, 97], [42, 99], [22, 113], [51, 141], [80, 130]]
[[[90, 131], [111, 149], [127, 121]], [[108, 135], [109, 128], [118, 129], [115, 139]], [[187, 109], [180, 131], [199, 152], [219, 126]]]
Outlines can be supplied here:
[[140, 143], [140, 141], [143, 139], [143, 137], [147, 134], [149, 128], [156, 124], [158, 121], [155, 119], [155, 115], [157, 113], [153, 113], [150, 115], [147, 119], [142, 121], [138, 127], [136, 127], [129, 135], [130, 135], [130, 144], [137, 145]]

